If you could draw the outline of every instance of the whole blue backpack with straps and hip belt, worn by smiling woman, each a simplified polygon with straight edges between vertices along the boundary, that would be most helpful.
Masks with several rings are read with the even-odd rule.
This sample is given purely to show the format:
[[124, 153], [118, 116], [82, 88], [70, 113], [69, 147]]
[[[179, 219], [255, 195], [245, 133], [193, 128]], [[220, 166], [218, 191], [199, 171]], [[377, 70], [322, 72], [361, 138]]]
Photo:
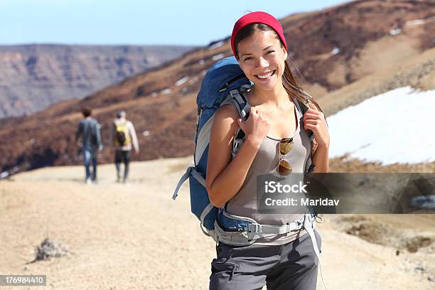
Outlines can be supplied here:
[[[252, 86], [252, 83], [247, 79], [245, 74], [240, 69], [239, 63], [235, 57], [224, 58], [208, 70], [203, 82], [201, 83], [200, 91], [196, 99], [198, 105], [198, 119], [196, 122], [195, 133], [195, 152], [194, 166], [187, 168], [186, 173], [178, 181], [176, 190], [173, 193], [175, 200], [178, 195], [178, 190], [181, 185], [188, 179], [190, 185], [190, 209], [193, 214], [200, 220], [200, 228], [205, 235], [213, 237], [213, 240], [218, 242], [218, 234], [225, 235], [225, 230], [219, 225], [225, 225], [225, 229], [235, 228], [236, 232], [247, 231], [253, 232], [252, 229], [257, 225], [254, 220], [247, 218], [231, 216], [225, 212], [225, 209], [215, 208], [210, 203], [208, 192], [205, 188], [205, 174], [207, 171], [208, 148], [210, 141], [210, 129], [213, 123], [215, 112], [223, 104], [233, 104], [242, 119], [247, 119], [249, 116], [250, 105], [247, 99], [247, 91]], [[297, 107], [301, 109], [302, 114], [306, 112], [305, 104], [297, 101]], [[311, 141], [311, 151], [313, 148], [313, 134], [308, 132]], [[237, 150], [245, 140], [244, 132], [239, 128], [232, 144], [232, 156], [234, 158]], [[311, 154], [308, 158], [306, 172], [313, 170], [311, 164]], [[218, 223], [216, 223], [218, 220]], [[297, 224], [297, 223], [296, 223]], [[223, 226], [222, 226], [223, 227]], [[242, 230], [243, 229], [243, 230]], [[267, 232], [267, 227], [262, 226], [263, 232]], [[218, 231], [218, 233], [216, 232]], [[233, 231], [233, 230], [231, 230]], [[271, 228], [269, 233], [282, 232]], [[257, 231], [257, 233], [259, 233]], [[245, 245], [245, 242], [235, 242], [236, 237], [231, 237], [232, 243], [237, 245]], [[222, 239], [220, 239], [222, 240]], [[252, 238], [249, 239], [249, 243]], [[228, 242], [228, 241], [227, 241]]]

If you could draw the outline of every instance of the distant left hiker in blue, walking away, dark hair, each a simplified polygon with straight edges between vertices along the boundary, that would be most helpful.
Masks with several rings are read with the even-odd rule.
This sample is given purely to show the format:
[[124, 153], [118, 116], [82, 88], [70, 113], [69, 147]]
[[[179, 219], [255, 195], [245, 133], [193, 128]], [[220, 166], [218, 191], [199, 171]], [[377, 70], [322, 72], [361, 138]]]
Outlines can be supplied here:
[[[82, 109], [84, 119], [80, 120], [77, 132], [75, 134], [75, 142], [83, 154], [85, 161], [85, 183], [90, 184], [91, 181], [97, 182], [97, 156], [98, 151], [102, 151], [102, 141], [100, 134], [100, 124], [97, 120], [91, 117], [92, 110], [90, 108]], [[92, 174], [90, 171], [90, 162], [92, 161]]]

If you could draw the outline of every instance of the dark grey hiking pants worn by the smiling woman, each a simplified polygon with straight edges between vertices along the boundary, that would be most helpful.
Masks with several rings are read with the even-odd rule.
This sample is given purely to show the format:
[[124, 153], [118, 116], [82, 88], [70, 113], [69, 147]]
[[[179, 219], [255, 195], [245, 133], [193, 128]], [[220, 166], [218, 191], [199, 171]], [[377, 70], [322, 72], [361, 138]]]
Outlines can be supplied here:
[[[321, 237], [316, 230], [317, 245]], [[318, 258], [308, 234], [285, 245], [216, 247], [210, 290], [315, 290]]]

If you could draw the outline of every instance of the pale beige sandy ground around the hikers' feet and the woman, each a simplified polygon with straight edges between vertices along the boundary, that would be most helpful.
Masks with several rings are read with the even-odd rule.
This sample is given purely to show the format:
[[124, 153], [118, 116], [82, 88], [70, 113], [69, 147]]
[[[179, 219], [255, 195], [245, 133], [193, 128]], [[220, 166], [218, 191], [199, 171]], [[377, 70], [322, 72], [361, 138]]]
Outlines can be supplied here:
[[[127, 185], [112, 164], [97, 185], [82, 183], [82, 166], [0, 181], [0, 274], [47, 275], [46, 287], [19, 289], [208, 289], [215, 244], [190, 214], [188, 183], [171, 199], [190, 161], [132, 163]], [[328, 289], [435, 289], [435, 215], [323, 218]], [[26, 264], [45, 237], [68, 255]]]

